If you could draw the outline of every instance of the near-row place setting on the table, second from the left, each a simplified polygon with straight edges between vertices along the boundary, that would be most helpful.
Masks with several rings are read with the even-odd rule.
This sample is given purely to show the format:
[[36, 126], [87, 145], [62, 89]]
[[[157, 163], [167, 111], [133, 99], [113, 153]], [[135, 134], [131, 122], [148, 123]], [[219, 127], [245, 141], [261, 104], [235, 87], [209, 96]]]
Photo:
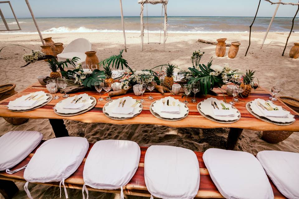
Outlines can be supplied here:
[[69, 117], [85, 113], [96, 104], [97, 100], [93, 96], [84, 93], [61, 100], [53, 109], [57, 115]]

